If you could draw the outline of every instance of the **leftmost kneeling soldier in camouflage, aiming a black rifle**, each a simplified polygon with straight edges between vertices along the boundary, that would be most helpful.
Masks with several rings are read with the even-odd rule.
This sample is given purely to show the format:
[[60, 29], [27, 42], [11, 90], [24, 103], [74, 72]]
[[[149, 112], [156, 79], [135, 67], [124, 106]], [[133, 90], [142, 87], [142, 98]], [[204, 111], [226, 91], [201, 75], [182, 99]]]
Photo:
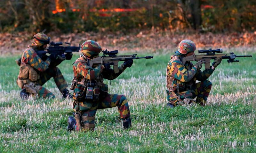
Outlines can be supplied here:
[[[63, 59], [60, 56], [51, 54], [39, 57], [37, 51], [44, 50], [50, 42], [50, 37], [44, 33], [37, 33], [33, 37], [33, 42], [23, 52], [20, 62], [20, 73], [17, 79], [21, 98], [27, 98], [29, 95], [55, 98], [52, 92], [48, 91], [42, 85], [53, 77], [55, 84], [59, 88], [62, 98], [67, 98], [68, 90], [67, 82], [65, 81], [60, 69], [57, 67], [63, 60], [70, 60], [71, 54], [66, 54]], [[18, 62], [19, 63], [19, 62]]]

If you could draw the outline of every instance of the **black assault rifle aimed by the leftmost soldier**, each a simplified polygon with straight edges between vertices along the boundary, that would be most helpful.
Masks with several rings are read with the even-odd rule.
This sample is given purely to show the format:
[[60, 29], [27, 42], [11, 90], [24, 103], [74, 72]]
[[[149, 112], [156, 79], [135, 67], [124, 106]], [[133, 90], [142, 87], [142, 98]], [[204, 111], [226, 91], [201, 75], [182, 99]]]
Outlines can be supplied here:
[[70, 43], [65, 42], [65, 44], [68, 44], [69, 46], [62, 46], [62, 42], [50, 42], [50, 46], [46, 50], [38, 50], [36, 51], [37, 55], [44, 59], [46, 56], [46, 53], [48, 54], [55, 54], [55, 55], [60, 55], [61, 58], [65, 59], [65, 54], [64, 53], [72, 53], [72, 52], [79, 52], [80, 50], [80, 45], [78, 47], [76, 46], [70, 46]]

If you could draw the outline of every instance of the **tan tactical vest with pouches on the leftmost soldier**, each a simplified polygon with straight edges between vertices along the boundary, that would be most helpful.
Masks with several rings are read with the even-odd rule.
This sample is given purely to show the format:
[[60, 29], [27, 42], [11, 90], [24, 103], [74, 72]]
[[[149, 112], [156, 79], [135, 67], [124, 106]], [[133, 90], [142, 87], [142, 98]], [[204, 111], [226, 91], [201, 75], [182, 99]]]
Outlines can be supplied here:
[[[21, 56], [23, 59], [24, 53]], [[36, 72], [36, 70], [29, 64], [26, 64], [21, 61], [20, 63], [20, 72], [16, 83], [20, 88], [23, 88], [24, 85], [30, 82], [36, 82], [39, 79], [40, 75]]]

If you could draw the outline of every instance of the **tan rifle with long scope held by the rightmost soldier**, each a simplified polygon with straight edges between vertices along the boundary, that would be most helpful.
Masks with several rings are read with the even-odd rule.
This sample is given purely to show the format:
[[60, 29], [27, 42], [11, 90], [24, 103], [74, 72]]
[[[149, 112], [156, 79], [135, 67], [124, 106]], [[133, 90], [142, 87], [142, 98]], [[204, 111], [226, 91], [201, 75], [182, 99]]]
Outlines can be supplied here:
[[[236, 57], [252, 57], [252, 55], [235, 55], [233, 52], [230, 52], [229, 54], [215, 54], [215, 53], [222, 53], [223, 49], [215, 49], [212, 50], [212, 48], [210, 48], [209, 50], [198, 50], [198, 53], [206, 53], [206, 55], [191, 55], [191, 56], [187, 56], [187, 57], [183, 57], [182, 62], [185, 61], [204, 61], [204, 68], [205, 69], [210, 69], [210, 62], [211, 59], [216, 59], [216, 58], [220, 58], [222, 57], [222, 59], [228, 59], [228, 63], [231, 62], [239, 62], [239, 60], [234, 60]], [[214, 65], [215, 63], [213, 62], [212, 65]]]

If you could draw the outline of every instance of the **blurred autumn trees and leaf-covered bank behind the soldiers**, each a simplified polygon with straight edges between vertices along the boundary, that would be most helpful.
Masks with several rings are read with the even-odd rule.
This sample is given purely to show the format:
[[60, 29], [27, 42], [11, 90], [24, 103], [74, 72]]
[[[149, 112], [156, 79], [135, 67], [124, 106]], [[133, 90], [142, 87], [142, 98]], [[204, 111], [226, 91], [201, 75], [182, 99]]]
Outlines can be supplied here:
[[131, 43], [124, 50], [170, 49], [183, 38], [198, 47], [254, 46], [255, 16], [250, 0], [1, 0], [0, 49], [21, 49], [42, 31], [55, 41]]

